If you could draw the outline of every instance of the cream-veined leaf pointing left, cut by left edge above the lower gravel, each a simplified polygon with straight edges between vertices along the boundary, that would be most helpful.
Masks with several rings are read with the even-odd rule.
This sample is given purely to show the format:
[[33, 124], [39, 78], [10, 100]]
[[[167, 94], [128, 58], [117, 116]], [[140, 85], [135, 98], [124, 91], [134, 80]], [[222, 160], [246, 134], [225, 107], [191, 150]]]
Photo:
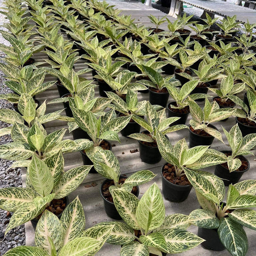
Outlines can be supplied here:
[[9, 212], [15, 212], [19, 207], [33, 202], [35, 192], [28, 188], [4, 188], [0, 189], [0, 208]]

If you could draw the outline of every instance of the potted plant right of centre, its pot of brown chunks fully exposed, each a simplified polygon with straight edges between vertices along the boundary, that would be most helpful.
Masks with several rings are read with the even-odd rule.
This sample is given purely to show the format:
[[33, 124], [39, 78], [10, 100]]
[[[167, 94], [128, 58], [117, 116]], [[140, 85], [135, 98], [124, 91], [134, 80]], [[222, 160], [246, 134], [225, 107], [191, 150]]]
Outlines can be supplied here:
[[161, 169], [163, 195], [166, 200], [183, 202], [189, 195], [192, 185], [186, 177], [186, 170], [200, 169], [224, 163], [224, 154], [208, 149], [209, 146], [189, 148], [185, 138], [175, 145], [157, 131], [157, 145], [162, 157], [167, 161]]

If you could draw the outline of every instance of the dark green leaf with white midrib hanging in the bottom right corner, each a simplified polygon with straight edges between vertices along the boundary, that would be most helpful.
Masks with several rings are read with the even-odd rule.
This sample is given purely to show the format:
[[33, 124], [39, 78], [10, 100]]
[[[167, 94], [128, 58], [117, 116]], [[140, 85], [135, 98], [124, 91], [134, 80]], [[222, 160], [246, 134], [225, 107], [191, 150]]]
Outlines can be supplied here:
[[247, 236], [240, 224], [231, 218], [222, 218], [218, 227], [221, 243], [232, 256], [245, 256], [248, 250]]

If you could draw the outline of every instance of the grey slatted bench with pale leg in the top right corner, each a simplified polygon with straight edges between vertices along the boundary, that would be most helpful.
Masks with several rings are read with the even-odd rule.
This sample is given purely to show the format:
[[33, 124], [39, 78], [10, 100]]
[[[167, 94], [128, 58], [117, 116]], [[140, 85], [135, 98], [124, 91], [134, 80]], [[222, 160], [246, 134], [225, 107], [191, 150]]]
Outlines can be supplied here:
[[[250, 0], [245, 1], [253, 2]], [[205, 13], [207, 12], [212, 17], [214, 17], [214, 15], [222, 17], [232, 17], [236, 15], [237, 21], [247, 22], [248, 19], [250, 23], [256, 23], [256, 10], [233, 3], [226, 3], [221, 0], [172, 0], [169, 15], [174, 17], [179, 15], [183, 3], [203, 9], [204, 14], [201, 16], [202, 18], [205, 17]]]

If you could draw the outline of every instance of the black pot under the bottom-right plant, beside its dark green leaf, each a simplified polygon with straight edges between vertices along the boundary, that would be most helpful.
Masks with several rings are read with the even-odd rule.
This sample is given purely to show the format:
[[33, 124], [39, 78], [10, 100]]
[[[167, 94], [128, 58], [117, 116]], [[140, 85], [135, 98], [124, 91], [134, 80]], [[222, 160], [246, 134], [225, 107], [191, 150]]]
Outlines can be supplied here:
[[217, 229], [207, 229], [198, 227], [198, 236], [206, 240], [201, 243], [203, 247], [205, 247], [206, 249], [215, 251], [225, 250], [224, 245], [221, 243], [221, 240], [219, 239]]

